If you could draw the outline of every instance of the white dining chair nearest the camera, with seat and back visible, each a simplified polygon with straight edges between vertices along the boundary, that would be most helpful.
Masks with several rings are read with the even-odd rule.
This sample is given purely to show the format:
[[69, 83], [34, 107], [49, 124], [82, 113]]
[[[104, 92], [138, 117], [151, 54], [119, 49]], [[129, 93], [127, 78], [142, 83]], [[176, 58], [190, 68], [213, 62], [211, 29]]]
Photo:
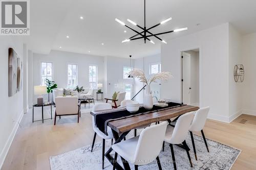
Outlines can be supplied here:
[[113, 169], [116, 167], [117, 155], [129, 163], [133, 163], [135, 170], [138, 170], [139, 165], [151, 163], [155, 159], [158, 168], [162, 169], [158, 155], [161, 151], [167, 124], [167, 122], [163, 122], [147, 127], [139, 136], [113, 144], [112, 149], [115, 151]]

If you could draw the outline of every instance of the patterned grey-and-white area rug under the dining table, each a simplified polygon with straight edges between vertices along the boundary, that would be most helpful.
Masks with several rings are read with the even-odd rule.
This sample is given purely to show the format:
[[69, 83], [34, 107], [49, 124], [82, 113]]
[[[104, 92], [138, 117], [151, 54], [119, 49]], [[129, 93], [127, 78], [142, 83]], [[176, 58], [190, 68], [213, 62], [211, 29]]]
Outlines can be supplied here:
[[[133, 136], [130, 132], [129, 136]], [[222, 143], [207, 139], [209, 147], [209, 153], [206, 150], [203, 138], [194, 135], [198, 161], [195, 159], [193, 147], [190, 139], [190, 135], [187, 135], [187, 145], [190, 148], [189, 154], [193, 162], [194, 167], [190, 167], [187, 154], [184, 149], [174, 145], [175, 159], [177, 169], [230, 169], [241, 153], [240, 150], [229, 147]], [[52, 170], [68, 170], [68, 169], [85, 169], [85, 170], [98, 170], [101, 169], [101, 152], [102, 143], [96, 143], [94, 150], [91, 153], [91, 146], [82, 147], [74, 151], [70, 151], [61, 155], [50, 157], [50, 164]], [[107, 151], [111, 147], [111, 140], [106, 141], [105, 150]], [[114, 157], [114, 152], [112, 152]], [[159, 155], [161, 165], [163, 169], [174, 169], [170, 148], [165, 143], [164, 152], [161, 151]], [[119, 160], [120, 161], [120, 160]], [[130, 164], [131, 169], [134, 169], [134, 165]], [[106, 170], [110, 170], [113, 166], [105, 158]], [[139, 167], [140, 170], [158, 169], [157, 163], [152, 162], [148, 165]]]

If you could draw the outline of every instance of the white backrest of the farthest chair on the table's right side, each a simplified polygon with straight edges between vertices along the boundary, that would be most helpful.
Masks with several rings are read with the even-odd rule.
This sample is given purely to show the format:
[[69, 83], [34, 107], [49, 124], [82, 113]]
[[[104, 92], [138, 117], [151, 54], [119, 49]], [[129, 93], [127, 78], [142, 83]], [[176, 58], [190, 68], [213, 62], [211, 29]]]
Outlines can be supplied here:
[[201, 131], [205, 125], [208, 113], [209, 113], [210, 108], [209, 107], [204, 107], [200, 108], [194, 117], [194, 120], [189, 128], [189, 131], [194, 131], [198, 132]]

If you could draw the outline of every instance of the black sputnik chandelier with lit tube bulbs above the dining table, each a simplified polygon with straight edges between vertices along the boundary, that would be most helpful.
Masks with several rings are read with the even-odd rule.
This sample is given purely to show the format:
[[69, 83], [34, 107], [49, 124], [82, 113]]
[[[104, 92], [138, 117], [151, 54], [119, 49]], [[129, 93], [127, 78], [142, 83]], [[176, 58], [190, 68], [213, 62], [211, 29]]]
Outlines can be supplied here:
[[[162, 35], [162, 34], [167, 34], [167, 33], [173, 33], [173, 32], [179, 32], [179, 31], [184, 31], [184, 30], [187, 30], [187, 28], [181, 28], [181, 29], [176, 29], [176, 30], [172, 30], [172, 31], [167, 31], [167, 32], [162, 32], [162, 33], [158, 33], [158, 34], [153, 34], [151, 33], [149, 30], [157, 27], [157, 26], [160, 26], [162, 24], [164, 24], [165, 22], [168, 22], [169, 20], [172, 20], [171, 17], [169, 17], [168, 19], [165, 19], [159, 23], [157, 23], [155, 26], [152, 26], [150, 28], [146, 28], [146, 0], [144, 0], [144, 28], [139, 26], [136, 22], [130, 20], [130, 19], [127, 19], [128, 22], [132, 23], [134, 26], [137, 26], [139, 27], [140, 29], [142, 29], [143, 31], [139, 32], [139, 31], [136, 31], [134, 30], [133, 28], [125, 25], [124, 22], [122, 22], [121, 20], [119, 19], [115, 19], [117, 22], [119, 22], [121, 25], [133, 30], [134, 32], [136, 32], [137, 34], [130, 37], [129, 39], [125, 39], [122, 41], [123, 42], [128, 42], [128, 41], [132, 41], [132, 40], [137, 40], [137, 39], [144, 39], [144, 42], [146, 43], [146, 40], [150, 41], [151, 43], [155, 44], [155, 42], [151, 39], [149, 39], [149, 37], [156, 37], [157, 39], [159, 39], [160, 41], [162, 41], [163, 43], [167, 43], [166, 41], [162, 40], [161, 38], [158, 37], [158, 35]], [[149, 34], [149, 35], [148, 35]], [[140, 35], [139, 37], [137, 37], [138, 35]]]

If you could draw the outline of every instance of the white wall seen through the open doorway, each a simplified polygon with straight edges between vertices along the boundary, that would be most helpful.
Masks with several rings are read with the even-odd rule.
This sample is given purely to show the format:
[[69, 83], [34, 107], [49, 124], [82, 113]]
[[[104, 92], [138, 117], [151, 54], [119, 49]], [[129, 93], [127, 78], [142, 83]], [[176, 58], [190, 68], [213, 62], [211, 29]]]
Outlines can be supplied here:
[[199, 104], [199, 52], [186, 51], [190, 54], [190, 103]]

